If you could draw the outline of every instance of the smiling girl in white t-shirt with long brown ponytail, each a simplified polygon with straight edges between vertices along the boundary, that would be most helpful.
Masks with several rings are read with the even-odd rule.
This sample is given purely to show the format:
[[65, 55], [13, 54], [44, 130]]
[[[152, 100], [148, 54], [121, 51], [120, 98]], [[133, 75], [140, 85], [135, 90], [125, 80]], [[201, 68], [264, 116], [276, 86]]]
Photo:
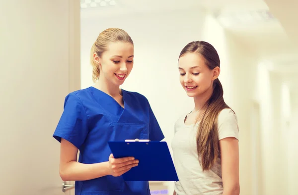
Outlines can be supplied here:
[[219, 55], [207, 42], [191, 42], [178, 64], [180, 83], [195, 107], [175, 123], [174, 195], [239, 195], [238, 123], [224, 102]]

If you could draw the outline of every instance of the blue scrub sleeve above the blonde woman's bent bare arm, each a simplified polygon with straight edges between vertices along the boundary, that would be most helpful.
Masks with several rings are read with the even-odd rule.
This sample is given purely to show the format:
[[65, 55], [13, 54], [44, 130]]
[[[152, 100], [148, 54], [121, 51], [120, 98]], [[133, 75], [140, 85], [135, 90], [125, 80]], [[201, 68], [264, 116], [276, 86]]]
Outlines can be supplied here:
[[71, 93], [65, 98], [64, 111], [53, 137], [61, 142], [61, 138], [79, 148], [88, 133], [87, 116], [81, 100]]

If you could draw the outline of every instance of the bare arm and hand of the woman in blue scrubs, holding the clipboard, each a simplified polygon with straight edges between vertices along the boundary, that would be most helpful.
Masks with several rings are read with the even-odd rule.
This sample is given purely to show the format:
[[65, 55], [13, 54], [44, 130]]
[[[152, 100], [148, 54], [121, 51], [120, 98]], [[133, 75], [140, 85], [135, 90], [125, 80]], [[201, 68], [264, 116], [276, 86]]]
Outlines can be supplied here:
[[106, 175], [117, 177], [138, 165], [131, 157], [115, 159], [112, 154], [107, 162], [83, 164], [76, 161], [77, 151], [72, 143], [61, 139], [59, 172], [63, 181], [91, 180]]

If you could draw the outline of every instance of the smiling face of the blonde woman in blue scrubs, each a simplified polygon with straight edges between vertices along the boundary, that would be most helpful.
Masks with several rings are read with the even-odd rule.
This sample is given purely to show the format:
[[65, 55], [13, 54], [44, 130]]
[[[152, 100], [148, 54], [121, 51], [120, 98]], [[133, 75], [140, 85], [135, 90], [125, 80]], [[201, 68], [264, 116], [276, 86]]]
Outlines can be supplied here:
[[94, 53], [100, 69], [99, 79], [120, 86], [133, 69], [134, 46], [126, 42], [110, 42], [101, 57]]

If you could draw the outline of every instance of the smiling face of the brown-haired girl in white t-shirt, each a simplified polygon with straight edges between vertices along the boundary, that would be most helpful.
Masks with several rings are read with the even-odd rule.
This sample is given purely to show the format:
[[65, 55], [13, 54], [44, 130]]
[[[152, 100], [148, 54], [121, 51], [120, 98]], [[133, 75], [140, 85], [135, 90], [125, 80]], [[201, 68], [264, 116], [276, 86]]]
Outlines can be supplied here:
[[197, 97], [213, 90], [213, 81], [218, 78], [220, 68], [210, 69], [205, 58], [196, 52], [179, 58], [180, 83], [189, 97]]

